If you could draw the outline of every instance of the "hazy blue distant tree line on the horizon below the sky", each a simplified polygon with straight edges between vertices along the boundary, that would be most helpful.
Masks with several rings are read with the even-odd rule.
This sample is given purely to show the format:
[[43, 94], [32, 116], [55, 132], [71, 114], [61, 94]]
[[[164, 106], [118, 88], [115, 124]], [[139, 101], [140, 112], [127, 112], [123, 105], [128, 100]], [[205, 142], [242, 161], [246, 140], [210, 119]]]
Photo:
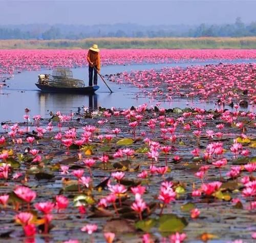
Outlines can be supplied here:
[[[26, 28], [25, 28], [26, 27]], [[244, 24], [140, 26], [135, 24], [75, 26], [0, 26], [0, 39], [82, 39], [89, 37], [244, 37], [256, 36], [256, 21]]]

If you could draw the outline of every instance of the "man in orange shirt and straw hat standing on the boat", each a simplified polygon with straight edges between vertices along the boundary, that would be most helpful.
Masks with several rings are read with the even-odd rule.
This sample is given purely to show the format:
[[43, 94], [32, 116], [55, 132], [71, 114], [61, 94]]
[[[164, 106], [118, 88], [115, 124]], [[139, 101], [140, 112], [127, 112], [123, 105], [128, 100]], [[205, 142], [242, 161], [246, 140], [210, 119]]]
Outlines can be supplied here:
[[97, 85], [97, 73], [100, 72], [100, 55], [98, 45], [94, 44], [89, 49], [87, 54], [87, 60], [89, 62], [89, 86]]

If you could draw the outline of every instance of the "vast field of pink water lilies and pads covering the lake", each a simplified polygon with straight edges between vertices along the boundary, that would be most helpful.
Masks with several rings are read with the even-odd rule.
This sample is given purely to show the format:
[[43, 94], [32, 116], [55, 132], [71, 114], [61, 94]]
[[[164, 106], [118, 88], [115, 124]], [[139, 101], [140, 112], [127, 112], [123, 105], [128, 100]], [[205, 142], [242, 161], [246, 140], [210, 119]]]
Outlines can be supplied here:
[[[83, 67], [85, 56], [1, 50], [0, 95], [17, 72]], [[254, 242], [255, 58], [256, 50], [102, 50], [103, 65], [225, 63], [105, 76], [156, 106], [83, 106], [50, 119], [24, 107], [19, 122], [2, 122], [0, 241]], [[228, 63], [236, 59], [252, 61]], [[172, 100], [216, 108], [162, 106]]]

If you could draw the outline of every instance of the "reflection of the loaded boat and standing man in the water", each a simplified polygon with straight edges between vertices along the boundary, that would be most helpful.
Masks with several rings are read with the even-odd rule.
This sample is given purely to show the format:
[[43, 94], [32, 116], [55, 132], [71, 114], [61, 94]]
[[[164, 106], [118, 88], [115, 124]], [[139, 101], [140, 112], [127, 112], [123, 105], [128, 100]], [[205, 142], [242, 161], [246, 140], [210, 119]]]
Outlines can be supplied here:
[[61, 94], [38, 92], [38, 103], [40, 115], [45, 117], [49, 111], [61, 111], [68, 113], [78, 106], [87, 106], [90, 109], [98, 108], [98, 95], [81, 95], [81, 94]]

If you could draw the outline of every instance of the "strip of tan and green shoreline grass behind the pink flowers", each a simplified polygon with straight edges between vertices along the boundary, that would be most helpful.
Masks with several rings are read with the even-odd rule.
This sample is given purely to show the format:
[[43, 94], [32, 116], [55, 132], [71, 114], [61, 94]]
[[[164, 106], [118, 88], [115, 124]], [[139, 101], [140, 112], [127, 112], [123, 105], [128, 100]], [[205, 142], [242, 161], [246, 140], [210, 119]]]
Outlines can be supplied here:
[[0, 49], [256, 49], [256, 37], [102, 37], [57, 40], [0, 40]]

